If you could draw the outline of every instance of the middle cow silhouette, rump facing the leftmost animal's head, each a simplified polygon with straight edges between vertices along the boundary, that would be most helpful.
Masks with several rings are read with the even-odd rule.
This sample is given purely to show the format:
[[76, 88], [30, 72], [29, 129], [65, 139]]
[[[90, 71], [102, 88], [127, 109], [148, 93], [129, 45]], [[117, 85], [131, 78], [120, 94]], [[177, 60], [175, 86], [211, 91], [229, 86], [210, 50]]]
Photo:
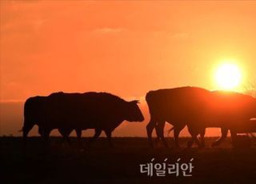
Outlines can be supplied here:
[[[199, 87], [178, 87], [150, 91], [146, 102], [150, 110], [150, 122], [146, 126], [150, 146], [153, 146], [152, 131], [157, 130], [164, 146], [168, 146], [163, 135], [165, 122], [174, 126], [175, 146], [179, 147], [178, 135], [191, 118], [202, 114], [202, 106], [210, 96], [210, 91]], [[201, 133], [202, 135], [203, 132]], [[198, 142], [198, 140], [197, 140]], [[198, 142], [200, 145], [200, 142]]]

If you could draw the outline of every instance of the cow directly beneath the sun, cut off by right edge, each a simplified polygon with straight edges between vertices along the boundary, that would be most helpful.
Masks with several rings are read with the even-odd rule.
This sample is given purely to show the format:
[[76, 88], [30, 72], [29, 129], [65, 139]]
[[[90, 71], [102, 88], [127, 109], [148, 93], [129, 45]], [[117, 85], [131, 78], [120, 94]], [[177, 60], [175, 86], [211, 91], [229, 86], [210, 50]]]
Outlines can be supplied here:
[[[250, 119], [256, 117], [256, 99], [246, 94], [230, 91], [212, 91], [203, 113], [205, 118], [190, 121], [187, 125], [192, 139], [188, 146], [196, 140], [197, 134], [203, 134], [207, 127], [220, 127], [222, 137], [218, 138], [212, 146], [219, 145], [230, 130], [234, 140], [237, 133], [253, 132], [255, 123]], [[207, 117], [207, 118], [206, 118]]]

